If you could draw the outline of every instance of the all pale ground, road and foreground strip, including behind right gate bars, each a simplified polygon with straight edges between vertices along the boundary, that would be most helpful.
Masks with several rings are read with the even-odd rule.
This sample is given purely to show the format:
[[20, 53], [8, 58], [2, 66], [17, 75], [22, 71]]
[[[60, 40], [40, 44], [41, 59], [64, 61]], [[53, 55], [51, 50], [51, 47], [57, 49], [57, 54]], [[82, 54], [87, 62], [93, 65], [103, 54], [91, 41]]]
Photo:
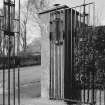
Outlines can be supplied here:
[[[20, 72], [21, 105], [66, 105], [63, 101], [51, 101], [51, 100], [41, 98], [41, 67], [40, 66], [24, 67], [24, 68], [21, 68], [20, 70], [21, 70]], [[11, 105], [13, 105], [12, 73], [13, 72], [11, 70]], [[8, 76], [6, 73], [6, 89], [8, 87], [7, 78]], [[16, 78], [17, 78], [17, 72], [16, 72]], [[17, 85], [17, 82], [16, 82], [16, 85]], [[101, 91], [95, 90], [95, 91], [96, 91], [96, 95], [95, 95], [96, 105], [100, 105], [100, 104], [104, 105], [105, 91], [103, 90]], [[81, 96], [83, 96], [82, 92], [81, 92]], [[91, 96], [92, 96], [92, 92], [90, 90], [90, 97], [89, 97], [90, 101], [92, 99]], [[87, 100], [87, 96], [86, 96], [86, 100]], [[8, 102], [8, 98], [6, 96], [6, 103], [7, 102]], [[16, 88], [16, 104], [17, 104], [17, 88]], [[0, 105], [2, 105], [2, 71], [0, 71]]]

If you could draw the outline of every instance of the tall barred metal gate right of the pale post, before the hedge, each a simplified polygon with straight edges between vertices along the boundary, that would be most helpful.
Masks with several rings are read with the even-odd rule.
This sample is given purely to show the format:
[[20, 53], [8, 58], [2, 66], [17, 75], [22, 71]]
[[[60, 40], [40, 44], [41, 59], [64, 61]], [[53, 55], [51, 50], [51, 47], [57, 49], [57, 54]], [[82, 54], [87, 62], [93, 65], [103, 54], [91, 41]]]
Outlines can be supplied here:
[[97, 104], [94, 49], [95, 4], [50, 13], [50, 98]]

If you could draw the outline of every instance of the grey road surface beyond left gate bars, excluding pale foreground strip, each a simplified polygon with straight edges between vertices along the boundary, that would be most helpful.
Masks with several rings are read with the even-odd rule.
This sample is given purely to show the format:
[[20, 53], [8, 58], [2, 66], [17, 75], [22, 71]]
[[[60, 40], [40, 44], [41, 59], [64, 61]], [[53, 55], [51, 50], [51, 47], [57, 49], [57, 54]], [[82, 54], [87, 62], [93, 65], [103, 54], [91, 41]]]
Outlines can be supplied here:
[[[41, 96], [41, 67], [40, 66], [32, 66], [32, 67], [24, 67], [20, 68], [20, 95], [21, 101], [25, 102], [25, 100], [30, 100], [34, 98], [38, 98]], [[11, 70], [11, 100], [13, 98], [13, 70]], [[2, 104], [2, 71], [0, 71], [0, 104]], [[8, 74], [6, 71], [6, 94], [8, 89]], [[16, 70], [16, 87], [17, 87], [17, 70]], [[16, 98], [17, 98], [17, 88], [16, 88]], [[7, 100], [7, 96], [6, 96]], [[24, 100], [24, 101], [23, 101]], [[12, 102], [13, 103], [13, 102]]]

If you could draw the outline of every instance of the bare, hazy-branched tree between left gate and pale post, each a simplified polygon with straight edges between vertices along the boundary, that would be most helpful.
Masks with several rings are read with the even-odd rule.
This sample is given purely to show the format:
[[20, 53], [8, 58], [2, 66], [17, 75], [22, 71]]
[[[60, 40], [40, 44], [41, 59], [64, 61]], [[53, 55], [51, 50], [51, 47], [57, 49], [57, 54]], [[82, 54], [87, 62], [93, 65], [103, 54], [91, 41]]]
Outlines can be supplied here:
[[[23, 40], [23, 48], [27, 47], [27, 32], [28, 26], [31, 23], [31, 27], [37, 27], [40, 30], [40, 22], [38, 12], [48, 7], [46, 0], [28, 0], [21, 6], [21, 37]], [[30, 27], [29, 27], [30, 28]], [[35, 30], [31, 29], [33, 32]], [[28, 38], [29, 39], [29, 38]]]

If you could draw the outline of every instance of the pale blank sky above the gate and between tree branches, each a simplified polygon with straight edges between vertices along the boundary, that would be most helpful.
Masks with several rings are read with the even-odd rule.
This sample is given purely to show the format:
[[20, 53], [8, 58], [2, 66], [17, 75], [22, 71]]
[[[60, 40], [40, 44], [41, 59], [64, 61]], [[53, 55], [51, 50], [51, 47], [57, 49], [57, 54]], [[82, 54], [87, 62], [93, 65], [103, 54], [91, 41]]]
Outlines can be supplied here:
[[[16, 0], [17, 4], [18, 4], [18, 1], [19, 0]], [[20, 0], [20, 1], [21, 1], [21, 4], [23, 4], [27, 0]], [[52, 6], [53, 4], [59, 3], [61, 5], [67, 5], [69, 7], [74, 7], [74, 6], [83, 4], [84, 0], [48, 0], [48, 1], [49, 1], [50, 6]], [[86, 0], [86, 3], [89, 3], [89, 2], [95, 2], [95, 9], [96, 9], [95, 15], [96, 17], [98, 16], [99, 18], [99, 19], [97, 18], [97, 22], [100, 25], [105, 25], [105, 0]], [[3, 6], [3, 0], [0, 0], [0, 7], [2, 6]], [[34, 30], [34, 29], [30, 29], [30, 30]], [[31, 42], [33, 37], [41, 36], [38, 27], [36, 27], [35, 30], [36, 30], [35, 33], [33, 33], [32, 31], [31, 31], [32, 33], [30, 31], [28, 32], [28, 34], [31, 35], [27, 37], [27, 39], [30, 39], [30, 41], [28, 42]]]

